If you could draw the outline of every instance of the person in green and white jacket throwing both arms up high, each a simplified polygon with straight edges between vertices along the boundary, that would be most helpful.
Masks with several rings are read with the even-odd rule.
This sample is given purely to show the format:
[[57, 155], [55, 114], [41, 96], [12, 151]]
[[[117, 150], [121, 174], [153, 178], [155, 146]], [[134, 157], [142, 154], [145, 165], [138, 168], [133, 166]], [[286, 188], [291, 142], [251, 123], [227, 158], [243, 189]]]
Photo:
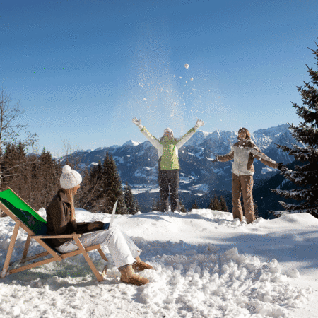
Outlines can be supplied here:
[[160, 193], [160, 211], [165, 212], [169, 207], [169, 195], [171, 202], [171, 211], [180, 211], [179, 204], [179, 157], [178, 149], [181, 148], [199, 129], [204, 125], [203, 120], [197, 120], [195, 126], [190, 129], [187, 134], [184, 134], [179, 139], [175, 139], [173, 131], [166, 128], [163, 136], [156, 139], [147, 129], [141, 124], [141, 119], [134, 118], [132, 120], [138, 126], [141, 133], [146, 136], [146, 139], [157, 149], [159, 162], [158, 162], [158, 184]]

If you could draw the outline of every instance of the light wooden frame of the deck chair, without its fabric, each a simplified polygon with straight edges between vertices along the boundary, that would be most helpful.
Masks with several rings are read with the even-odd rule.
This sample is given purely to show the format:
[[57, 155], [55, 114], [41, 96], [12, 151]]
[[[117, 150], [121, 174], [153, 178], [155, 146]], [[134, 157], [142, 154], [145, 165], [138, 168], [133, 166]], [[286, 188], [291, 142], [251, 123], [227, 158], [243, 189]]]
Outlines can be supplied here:
[[[6, 187], [6, 189], [10, 189], [10, 188]], [[13, 192], [12, 189], [10, 189], [10, 190]], [[13, 193], [16, 194], [15, 192], [13, 192]], [[16, 196], [18, 196], [18, 194], [16, 194]], [[20, 198], [20, 196], [18, 196], [18, 197]], [[21, 200], [25, 204], [27, 204], [23, 199], [21, 199]], [[0, 201], [0, 208], [2, 211], [4, 211], [4, 213], [6, 213], [7, 216], [12, 218], [16, 222], [16, 225], [14, 226], [14, 229], [13, 229], [13, 234], [11, 236], [11, 242], [10, 242], [9, 247], [8, 247], [8, 252], [6, 254], [6, 260], [4, 261], [4, 268], [2, 269], [2, 272], [1, 272], [1, 278], [5, 278], [7, 275], [10, 275], [11, 273], [18, 273], [19, 271], [33, 269], [34, 267], [41, 266], [44, 264], [49, 264], [49, 263], [52, 263], [53, 261], [61, 261], [62, 259], [67, 259], [68, 257], [73, 257], [73, 256], [76, 256], [79, 254], [83, 254], [83, 257], [86, 259], [88, 265], [90, 266], [90, 269], [93, 271], [93, 273], [96, 276], [96, 278], [98, 279], [98, 281], [103, 281], [102, 274], [106, 273], [107, 266], [105, 266], [105, 269], [103, 269], [102, 274], [100, 274], [100, 272], [96, 269], [95, 265], [93, 264], [93, 261], [88, 256], [88, 252], [97, 249], [98, 252], [100, 253], [100, 257], [102, 257], [102, 259], [104, 259], [105, 261], [108, 261], [104, 252], [102, 252], [100, 244], [92, 245], [90, 247], [83, 247], [83, 244], [79, 240], [79, 237], [81, 237], [81, 234], [35, 235], [35, 232], [33, 232], [33, 230], [30, 230], [30, 228], [28, 228], [28, 226], [25, 225], [12, 211], [10, 211], [4, 204], [2, 204], [1, 201]], [[14, 245], [16, 243], [16, 237], [18, 236], [18, 231], [20, 228], [22, 228], [23, 230], [25, 230], [25, 232], [28, 233], [28, 237], [27, 237], [27, 240], [25, 241], [24, 251], [23, 251], [22, 258], [20, 259], [19, 264], [23, 264], [23, 263], [26, 263], [28, 261], [32, 261], [33, 259], [39, 259], [42, 257], [46, 257], [48, 255], [50, 255], [51, 257], [49, 257], [48, 259], [43, 259], [42, 261], [34, 261], [31, 264], [20, 266], [16, 269], [9, 269], [9, 266], [11, 265], [10, 260], [11, 260], [12, 252], [14, 249]], [[64, 254], [60, 254], [59, 252], [54, 251], [54, 249], [49, 247], [49, 245], [47, 245], [47, 243], [45, 241], [43, 241], [43, 239], [52, 239], [52, 238], [73, 239], [76, 242], [78, 249], [76, 251], [73, 251], [73, 252], [67, 252]], [[33, 255], [31, 257], [27, 257], [31, 239], [36, 240], [46, 251], [39, 253], [39, 254], [36, 254], [36, 255]]]

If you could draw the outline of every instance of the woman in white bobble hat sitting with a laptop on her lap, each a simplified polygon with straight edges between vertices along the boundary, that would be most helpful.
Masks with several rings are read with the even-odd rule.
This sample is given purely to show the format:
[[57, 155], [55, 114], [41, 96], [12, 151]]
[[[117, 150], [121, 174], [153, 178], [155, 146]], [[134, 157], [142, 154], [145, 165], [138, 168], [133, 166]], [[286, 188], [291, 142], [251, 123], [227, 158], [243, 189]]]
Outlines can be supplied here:
[[[141, 250], [119, 228], [110, 223], [96, 221], [93, 223], [76, 223], [73, 196], [82, 182], [81, 175], [71, 170], [69, 165], [63, 167], [60, 177], [61, 189], [47, 206], [47, 234], [77, 234], [89, 233], [80, 237], [84, 247], [105, 243], [112, 254], [115, 266], [122, 274], [120, 280], [124, 283], [144, 285], [148, 279], [137, 275], [134, 271], [153, 269], [141, 261]], [[78, 249], [76, 242], [69, 239], [50, 239], [52, 247], [61, 253]]]

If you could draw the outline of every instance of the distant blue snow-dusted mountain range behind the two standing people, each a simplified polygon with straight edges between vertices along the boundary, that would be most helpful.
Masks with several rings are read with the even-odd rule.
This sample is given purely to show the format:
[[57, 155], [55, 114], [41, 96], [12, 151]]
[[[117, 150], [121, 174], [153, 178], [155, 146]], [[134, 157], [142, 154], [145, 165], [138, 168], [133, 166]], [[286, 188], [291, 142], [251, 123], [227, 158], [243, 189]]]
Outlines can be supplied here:
[[[160, 136], [157, 136], [160, 138]], [[187, 143], [179, 149], [180, 187], [183, 196], [202, 196], [211, 193], [225, 193], [231, 190], [231, 166], [228, 163], [212, 163], [214, 155], [228, 153], [237, 141], [237, 131], [197, 131]], [[291, 163], [293, 157], [279, 150], [276, 144], [296, 143], [288, 130], [288, 124], [259, 129], [252, 133], [252, 141], [276, 162]], [[158, 196], [158, 153], [149, 141], [143, 143], [127, 141], [122, 146], [114, 145], [98, 148], [94, 151], [73, 153], [83, 167], [96, 165], [105, 159], [106, 153], [114, 158], [122, 183], [128, 182], [134, 194], [152, 194]], [[266, 167], [258, 160], [254, 161], [255, 187], [276, 175], [278, 170]], [[151, 199], [152, 200], [152, 199]]]

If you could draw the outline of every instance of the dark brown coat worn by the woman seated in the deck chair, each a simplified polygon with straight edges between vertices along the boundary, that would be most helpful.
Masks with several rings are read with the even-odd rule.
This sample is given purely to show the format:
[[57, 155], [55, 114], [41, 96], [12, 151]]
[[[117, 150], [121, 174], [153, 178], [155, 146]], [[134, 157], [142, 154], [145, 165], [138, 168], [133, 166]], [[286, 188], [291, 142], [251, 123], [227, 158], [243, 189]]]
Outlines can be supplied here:
[[[47, 234], [72, 234], [86, 233], [90, 223], [76, 223], [71, 221], [71, 202], [66, 194], [60, 189], [47, 206]], [[70, 239], [51, 239], [49, 244], [53, 247], [59, 247]]]

